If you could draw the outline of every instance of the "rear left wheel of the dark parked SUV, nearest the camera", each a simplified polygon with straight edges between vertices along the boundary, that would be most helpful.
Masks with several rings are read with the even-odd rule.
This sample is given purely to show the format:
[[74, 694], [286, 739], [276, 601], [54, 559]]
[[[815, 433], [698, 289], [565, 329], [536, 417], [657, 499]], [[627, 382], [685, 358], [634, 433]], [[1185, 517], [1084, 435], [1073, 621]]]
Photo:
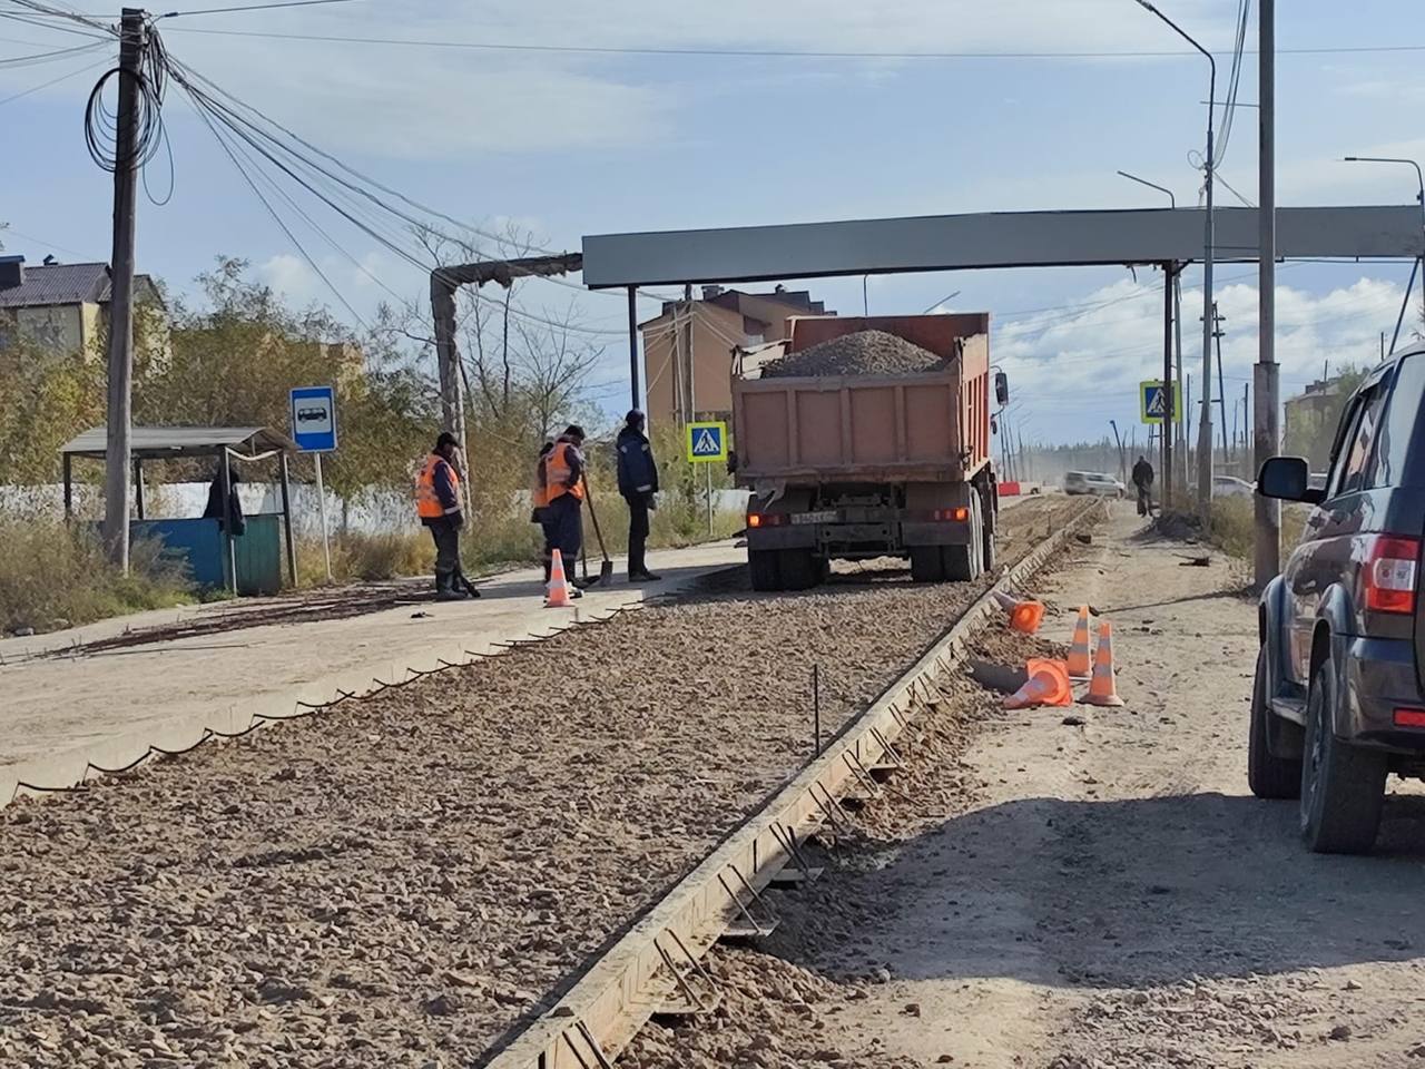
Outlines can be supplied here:
[[1387, 761], [1335, 737], [1338, 700], [1335, 664], [1327, 657], [1311, 676], [1307, 698], [1301, 837], [1317, 854], [1367, 854], [1381, 827]]

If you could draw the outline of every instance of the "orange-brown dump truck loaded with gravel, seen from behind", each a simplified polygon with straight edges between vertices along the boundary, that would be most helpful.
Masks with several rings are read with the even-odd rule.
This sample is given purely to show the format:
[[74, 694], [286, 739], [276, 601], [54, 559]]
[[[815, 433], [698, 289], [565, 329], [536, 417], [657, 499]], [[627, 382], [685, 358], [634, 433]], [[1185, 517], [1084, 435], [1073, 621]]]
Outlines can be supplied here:
[[[836, 559], [908, 559], [918, 582], [993, 569], [989, 315], [788, 326], [732, 359], [730, 462], [751, 490], [752, 587], [815, 586]], [[1002, 372], [993, 386], [1003, 405]]]

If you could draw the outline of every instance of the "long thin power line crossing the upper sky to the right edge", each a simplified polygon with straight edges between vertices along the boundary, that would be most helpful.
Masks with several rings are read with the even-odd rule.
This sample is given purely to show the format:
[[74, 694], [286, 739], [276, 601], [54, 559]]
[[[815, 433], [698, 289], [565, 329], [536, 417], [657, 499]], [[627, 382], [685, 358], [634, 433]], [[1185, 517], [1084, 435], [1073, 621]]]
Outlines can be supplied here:
[[[286, 41], [325, 41], [329, 44], [389, 44], [412, 48], [477, 48], [484, 51], [532, 51], [532, 53], [574, 53], [593, 56], [707, 56], [714, 58], [765, 58], [765, 60], [1123, 60], [1123, 58], [1178, 58], [1198, 56], [1187, 50], [1163, 51], [814, 51], [792, 48], [675, 48], [634, 47], [597, 44], [510, 44], [492, 41], [439, 41], [399, 37], [351, 37], [341, 34], [274, 33], [262, 30], [201, 30], [174, 27], [184, 33], [207, 33], [225, 37], [261, 37]], [[1352, 53], [1418, 53], [1425, 44], [1367, 44], [1367, 46], [1321, 46], [1307, 48], [1278, 48], [1278, 56], [1328, 56]], [[1227, 50], [1223, 51], [1227, 54]], [[1255, 56], [1254, 50], [1245, 50]]]

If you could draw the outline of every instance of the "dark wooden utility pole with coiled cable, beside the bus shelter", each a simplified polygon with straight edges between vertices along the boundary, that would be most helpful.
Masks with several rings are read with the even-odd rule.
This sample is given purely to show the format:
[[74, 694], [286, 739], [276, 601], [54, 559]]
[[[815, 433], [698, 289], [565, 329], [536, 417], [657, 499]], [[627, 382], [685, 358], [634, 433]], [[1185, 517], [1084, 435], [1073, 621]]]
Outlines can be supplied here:
[[118, 38], [118, 117], [114, 135], [114, 249], [108, 298], [108, 418], [104, 446], [104, 543], [128, 572], [130, 423], [134, 399], [134, 229], [138, 211], [138, 88], [144, 13], [125, 7]]

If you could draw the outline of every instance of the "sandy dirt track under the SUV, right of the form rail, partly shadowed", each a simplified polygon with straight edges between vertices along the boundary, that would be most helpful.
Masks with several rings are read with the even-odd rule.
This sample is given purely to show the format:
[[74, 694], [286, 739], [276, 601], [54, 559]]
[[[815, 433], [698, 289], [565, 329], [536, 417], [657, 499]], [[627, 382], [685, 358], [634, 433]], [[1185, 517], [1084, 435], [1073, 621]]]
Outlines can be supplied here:
[[1247, 791], [1245, 573], [1139, 525], [1120, 507], [1045, 586], [1052, 637], [1083, 601], [1113, 620], [1126, 706], [1002, 713], [962, 681], [906, 797], [762, 952], [717, 954], [771, 993], [631, 1065], [1425, 1066], [1425, 794], [1392, 780], [1374, 857], [1308, 854], [1295, 802]]

